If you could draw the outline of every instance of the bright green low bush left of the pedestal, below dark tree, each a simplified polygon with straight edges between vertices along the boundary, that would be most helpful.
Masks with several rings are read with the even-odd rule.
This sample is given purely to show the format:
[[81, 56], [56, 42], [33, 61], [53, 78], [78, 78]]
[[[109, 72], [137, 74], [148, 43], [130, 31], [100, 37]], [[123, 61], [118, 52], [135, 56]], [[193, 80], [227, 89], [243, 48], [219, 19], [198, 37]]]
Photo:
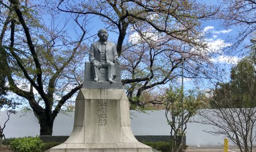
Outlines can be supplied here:
[[42, 140], [40, 137], [23, 137], [13, 139], [9, 144], [15, 152], [37, 152], [41, 151]]

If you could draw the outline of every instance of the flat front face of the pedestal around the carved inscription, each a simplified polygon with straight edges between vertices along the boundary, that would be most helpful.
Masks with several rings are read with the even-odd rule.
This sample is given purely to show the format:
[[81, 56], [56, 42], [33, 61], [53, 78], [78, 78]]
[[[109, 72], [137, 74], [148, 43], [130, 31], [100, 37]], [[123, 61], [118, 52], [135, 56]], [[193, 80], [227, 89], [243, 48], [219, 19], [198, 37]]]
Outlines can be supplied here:
[[[85, 143], [116, 143], [120, 141], [120, 109], [118, 100], [87, 100], [85, 102]], [[99, 105], [106, 108], [105, 121], [99, 120]], [[104, 109], [103, 109], [104, 111]]]

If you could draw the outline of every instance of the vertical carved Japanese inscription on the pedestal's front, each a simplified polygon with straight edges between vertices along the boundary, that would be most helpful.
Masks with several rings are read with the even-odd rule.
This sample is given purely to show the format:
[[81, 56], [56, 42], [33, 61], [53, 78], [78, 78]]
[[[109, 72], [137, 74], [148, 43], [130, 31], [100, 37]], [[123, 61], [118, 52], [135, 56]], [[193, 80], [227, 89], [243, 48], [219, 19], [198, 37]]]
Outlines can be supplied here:
[[106, 101], [99, 102], [99, 126], [106, 126]]

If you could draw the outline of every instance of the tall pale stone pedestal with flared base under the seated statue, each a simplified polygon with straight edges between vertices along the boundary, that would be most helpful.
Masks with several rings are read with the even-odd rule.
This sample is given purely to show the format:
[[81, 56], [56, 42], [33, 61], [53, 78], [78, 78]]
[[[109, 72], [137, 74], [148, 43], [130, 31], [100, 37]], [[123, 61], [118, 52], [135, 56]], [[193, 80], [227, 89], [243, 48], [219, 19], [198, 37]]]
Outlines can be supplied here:
[[129, 100], [123, 89], [81, 89], [75, 101], [72, 134], [51, 152], [152, 152], [131, 130]]

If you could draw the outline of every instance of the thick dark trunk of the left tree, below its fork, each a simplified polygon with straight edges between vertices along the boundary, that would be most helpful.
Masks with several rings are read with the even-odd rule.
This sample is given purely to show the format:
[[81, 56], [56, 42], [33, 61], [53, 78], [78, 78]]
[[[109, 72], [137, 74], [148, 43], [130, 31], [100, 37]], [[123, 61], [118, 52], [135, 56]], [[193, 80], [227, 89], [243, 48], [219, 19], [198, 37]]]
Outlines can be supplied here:
[[50, 135], [53, 134], [53, 122], [55, 117], [52, 114], [44, 114], [39, 118], [40, 122], [40, 135]]

